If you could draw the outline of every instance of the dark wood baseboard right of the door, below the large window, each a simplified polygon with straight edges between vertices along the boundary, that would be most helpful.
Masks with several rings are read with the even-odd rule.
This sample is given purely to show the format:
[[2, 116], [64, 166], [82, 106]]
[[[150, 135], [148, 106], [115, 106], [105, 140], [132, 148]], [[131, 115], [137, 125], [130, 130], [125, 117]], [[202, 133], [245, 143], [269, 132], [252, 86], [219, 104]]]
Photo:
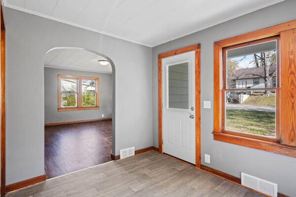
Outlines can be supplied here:
[[[202, 170], [206, 171], [206, 172], [209, 172], [209, 173], [211, 173], [211, 174], [214, 174], [214, 175], [216, 175], [216, 176], [219, 176], [219, 177], [221, 177], [221, 178], [223, 178], [223, 179], [225, 179], [225, 180], [228, 180], [228, 181], [230, 181], [230, 182], [232, 182], [232, 183], [236, 183], [236, 184], [238, 184], [238, 185], [240, 185], [240, 186], [242, 186], [242, 187], [248, 188], [248, 187], [243, 186], [243, 185], [241, 184], [241, 179], [238, 178], [238, 177], [232, 176], [232, 175], [230, 175], [230, 174], [227, 174], [227, 173], [222, 172], [222, 171], [219, 171], [219, 170], [217, 170], [217, 169], [214, 169], [214, 168], [208, 167], [208, 166], [206, 166], [206, 165], [201, 165], [200, 168], [201, 168]], [[248, 189], [250, 189], [250, 188], [248, 188]], [[250, 189], [250, 190], [253, 190], [253, 189]], [[265, 194], [263, 194], [263, 193], [260, 193], [260, 192], [258, 192], [258, 191], [256, 191], [256, 190], [253, 190], [253, 191], [255, 191], [255, 192], [257, 192], [257, 193], [259, 193], [259, 194], [261, 194], [261, 195], [264, 195], [264, 196], [266, 196], [266, 197], [269, 197], [268, 195], [265, 195]], [[281, 194], [281, 193], [278, 193], [278, 197], [289, 197], [289, 196], [284, 195], [284, 194]]]

